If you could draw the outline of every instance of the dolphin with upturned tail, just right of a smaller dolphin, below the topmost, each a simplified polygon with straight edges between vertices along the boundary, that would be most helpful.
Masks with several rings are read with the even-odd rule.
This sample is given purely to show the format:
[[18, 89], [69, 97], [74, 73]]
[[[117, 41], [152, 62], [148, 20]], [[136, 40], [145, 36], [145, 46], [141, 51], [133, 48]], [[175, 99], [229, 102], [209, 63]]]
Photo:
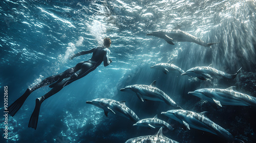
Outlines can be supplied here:
[[[242, 68], [242, 67], [241, 67]], [[221, 70], [218, 70], [214, 68], [213, 64], [210, 64], [209, 66], [197, 66], [188, 69], [185, 73], [181, 74], [187, 75], [189, 77], [197, 77], [200, 80], [206, 80], [206, 79], [234, 79], [237, 77], [239, 71], [241, 68], [237, 71], [236, 74], [230, 75], [227, 73], [224, 73]]]

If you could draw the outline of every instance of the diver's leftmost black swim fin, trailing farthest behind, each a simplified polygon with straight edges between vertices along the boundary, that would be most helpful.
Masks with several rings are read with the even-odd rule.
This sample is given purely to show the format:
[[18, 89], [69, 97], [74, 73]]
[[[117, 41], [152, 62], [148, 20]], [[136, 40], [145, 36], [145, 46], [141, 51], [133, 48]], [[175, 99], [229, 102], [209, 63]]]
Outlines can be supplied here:
[[31, 93], [31, 90], [28, 88], [26, 92], [18, 98], [11, 106], [8, 107], [9, 114], [11, 116], [14, 116], [16, 112], [22, 107], [25, 100], [28, 98], [29, 94]]

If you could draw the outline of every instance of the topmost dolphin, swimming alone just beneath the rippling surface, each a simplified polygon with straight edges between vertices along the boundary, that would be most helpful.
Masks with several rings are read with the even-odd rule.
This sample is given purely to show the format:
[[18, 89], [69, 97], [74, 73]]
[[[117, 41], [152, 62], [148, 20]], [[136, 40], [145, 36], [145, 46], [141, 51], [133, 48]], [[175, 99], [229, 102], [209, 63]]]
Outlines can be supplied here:
[[[148, 36], [155, 36], [164, 39], [167, 43], [174, 45], [173, 41], [177, 42], [194, 42], [202, 46], [210, 46], [216, 43], [206, 43], [203, 40], [188, 34], [181, 30], [158, 30], [146, 34]], [[217, 42], [219, 43], [219, 42]]]

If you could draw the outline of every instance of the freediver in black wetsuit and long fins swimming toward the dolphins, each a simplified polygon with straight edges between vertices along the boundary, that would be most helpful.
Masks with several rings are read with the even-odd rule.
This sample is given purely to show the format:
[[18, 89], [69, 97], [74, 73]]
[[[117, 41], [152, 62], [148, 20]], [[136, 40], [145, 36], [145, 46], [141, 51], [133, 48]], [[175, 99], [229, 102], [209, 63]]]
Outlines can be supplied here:
[[97, 66], [99, 66], [102, 63], [102, 61], [104, 63], [104, 66], [108, 66], [112, 62], [112, 60], [109, 59], [110, 45], [111, 39], [104, 38], [103, 46], [98, 46], [88, 51], [82, 51], [70, 57], [70, 59], [72, 60], [74, 57], [93, 53], [92, 58], [90, 60], [79, 62], [78, 64], [76, 64], [76, 66], [65, 70], [63, 73], [48, 77], [42, 80], [40, 83], [33, 86], [32, 88], [27, 88], [26, 92], [20, 98], [18, 98], [10, 107], [8, 107], [9, 114], [11, 116], [14, 116], [15, 113], [20, 109], [20, 107], [22, 107], [23, 103], [28, 98], [28, 96], [34, 90], [51, 84], [49, 87], [52, 89], [44, 96], [41, 96], [40, 98], [37, 98], [35, 100], [35, 109], [30, 117], [28, 127], [36, 129], [39, 110], [42, 102], [44, 102], [49, 97], [53, 96], [53, 94], [60, 91], [64, 86], [67, 86], [73, 81], [76, 81], [89, 74], [91, 71], [96, 69]]

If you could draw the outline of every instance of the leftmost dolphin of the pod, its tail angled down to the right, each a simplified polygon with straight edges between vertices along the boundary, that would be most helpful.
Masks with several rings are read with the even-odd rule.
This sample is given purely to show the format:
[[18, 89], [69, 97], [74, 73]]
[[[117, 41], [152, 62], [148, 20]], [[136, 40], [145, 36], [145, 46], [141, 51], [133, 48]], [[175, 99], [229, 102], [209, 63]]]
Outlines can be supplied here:
[[125, 105], [125, 101], [118, 102], [112, 99], [98, 98], [92, 101], [87, 101], [86, 103], [103, 109], [106, 116], [111, 112], [126, 117], [135, 123], [140, 120], [140, 118]]

